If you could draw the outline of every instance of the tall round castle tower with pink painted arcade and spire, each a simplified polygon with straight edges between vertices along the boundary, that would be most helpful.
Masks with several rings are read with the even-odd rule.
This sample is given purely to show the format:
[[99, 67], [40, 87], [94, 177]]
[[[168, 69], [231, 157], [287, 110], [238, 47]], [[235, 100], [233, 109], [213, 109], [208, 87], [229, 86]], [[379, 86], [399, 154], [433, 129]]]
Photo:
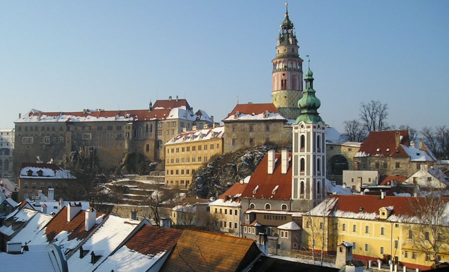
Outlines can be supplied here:
[[296, 119], [299, 108], [296, 106], [302, 97], [302, 62], [299, 46], [293, 32], [293, 22], [288, 17], [288, 5], [285, 19], [280, 25], [277, 38], [276, 57], [273, 62], [272, 102], [287, 119]]

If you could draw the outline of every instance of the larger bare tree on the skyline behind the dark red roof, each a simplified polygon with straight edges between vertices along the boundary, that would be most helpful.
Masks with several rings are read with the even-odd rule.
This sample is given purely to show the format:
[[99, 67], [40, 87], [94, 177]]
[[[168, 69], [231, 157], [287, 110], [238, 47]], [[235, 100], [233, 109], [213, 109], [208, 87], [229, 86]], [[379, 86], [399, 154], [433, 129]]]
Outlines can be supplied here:
[[388, 105], [379, 100], [360, 104], [360, 119], [367, 133], [388, 130]]

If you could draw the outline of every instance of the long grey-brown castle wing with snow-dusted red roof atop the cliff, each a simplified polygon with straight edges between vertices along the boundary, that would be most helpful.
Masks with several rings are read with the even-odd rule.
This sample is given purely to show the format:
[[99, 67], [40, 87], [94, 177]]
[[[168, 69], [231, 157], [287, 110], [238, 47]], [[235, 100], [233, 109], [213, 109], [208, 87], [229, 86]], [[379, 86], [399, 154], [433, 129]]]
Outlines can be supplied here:
[[15, 123], [14, 173], [22, 162], [58, 163], [80, 147], [95, 146], [100, 167], [115, 167], [124, 152], [164, 160], [164, 143], [184, 128], [213, 125], [213, 117], [197, 112], [185, 99], [158, 100], [146, 110], [41, 112], [31, 110]]

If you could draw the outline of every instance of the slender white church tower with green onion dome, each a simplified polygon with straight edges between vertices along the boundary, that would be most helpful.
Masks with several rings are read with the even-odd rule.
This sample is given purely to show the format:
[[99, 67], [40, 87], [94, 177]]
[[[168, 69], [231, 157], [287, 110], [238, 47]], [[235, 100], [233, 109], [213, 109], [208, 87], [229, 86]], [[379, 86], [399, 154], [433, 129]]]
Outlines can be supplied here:
[[313, 73], [306, 72], [305, 90], [298, 101], [301, 108], [293, 133], [292, 196], [302, 210], [310, 210], [325, 197], [326, 125], [318, 114], [321, 105], [313, 89]]

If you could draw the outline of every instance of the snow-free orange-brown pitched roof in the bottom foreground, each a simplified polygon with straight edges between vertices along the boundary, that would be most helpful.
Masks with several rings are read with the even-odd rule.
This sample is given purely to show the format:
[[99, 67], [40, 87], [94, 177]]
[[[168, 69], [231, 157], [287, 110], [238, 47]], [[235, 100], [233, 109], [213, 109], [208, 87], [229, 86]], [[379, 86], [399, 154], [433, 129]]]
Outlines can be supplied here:
[[241, 271], [259, 253], [253, 240], [187, 229], [161, 271]]

